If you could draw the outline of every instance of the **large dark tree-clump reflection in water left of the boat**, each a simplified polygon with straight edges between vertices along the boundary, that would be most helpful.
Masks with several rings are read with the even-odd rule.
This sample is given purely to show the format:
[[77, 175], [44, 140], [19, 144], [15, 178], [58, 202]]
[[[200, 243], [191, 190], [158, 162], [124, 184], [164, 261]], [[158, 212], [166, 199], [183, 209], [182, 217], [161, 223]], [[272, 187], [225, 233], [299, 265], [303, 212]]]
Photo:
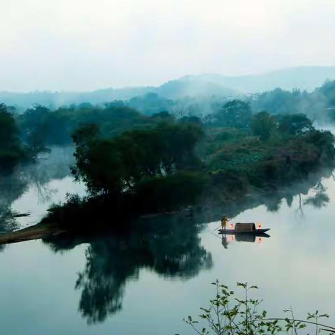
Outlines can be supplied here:
[[89, 243], [86, 265], [77, 278], [79, 311], [88, 323], [103, 322], [120, 311], [126, 283], [141, 269], [164, 277], [187, 279], [212, 266], [211, 254], [198, 236], [203, 225], [191, 220], [160, 219], [137, 224], [126, 234], [81, 239], [68, 234], [45, 241], [54, 251]]

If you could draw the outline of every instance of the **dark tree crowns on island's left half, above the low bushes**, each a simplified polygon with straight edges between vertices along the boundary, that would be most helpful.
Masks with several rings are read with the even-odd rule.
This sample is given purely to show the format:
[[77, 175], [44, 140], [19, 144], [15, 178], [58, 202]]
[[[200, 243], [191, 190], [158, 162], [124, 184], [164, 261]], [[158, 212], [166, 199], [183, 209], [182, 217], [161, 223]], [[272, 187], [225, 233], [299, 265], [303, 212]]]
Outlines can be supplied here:
[[96, 126], [83, 126], [73, 135], [77, 158], [73, 174], [91, 193], [121, 193], [142, 177], [165, 176], [195, 166], [194, 148], [202, 136], [198, 124], [162, 122], [104, 140], [98, 137]]

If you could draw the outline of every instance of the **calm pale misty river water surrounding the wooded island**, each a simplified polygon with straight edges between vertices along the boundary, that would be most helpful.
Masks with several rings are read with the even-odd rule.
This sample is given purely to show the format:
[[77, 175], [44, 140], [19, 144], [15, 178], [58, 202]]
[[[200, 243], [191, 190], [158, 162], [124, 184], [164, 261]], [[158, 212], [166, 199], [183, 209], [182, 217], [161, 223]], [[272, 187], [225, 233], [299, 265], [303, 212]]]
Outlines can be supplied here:
[[[1, 186], [1, 203], [40, 221], [66, 193], [84, 195], [68, 167], [71, 148], [53, 148]], [[260, 222], [269, 238], [225, 246], [216, 230]], [[325, 171], [281, 193], [193, 218], [156, 218], [124, 239], [27, 241], [0, 249], [1, 334], [193, 334], [183, 322], [214, 295], [212, 281], [258, 285], [269, 316], [335, 311], [335, 180]], [[112, 214], [110, 218], [112, 222]], [[237, 292], [239, 292], [237, 290]]]

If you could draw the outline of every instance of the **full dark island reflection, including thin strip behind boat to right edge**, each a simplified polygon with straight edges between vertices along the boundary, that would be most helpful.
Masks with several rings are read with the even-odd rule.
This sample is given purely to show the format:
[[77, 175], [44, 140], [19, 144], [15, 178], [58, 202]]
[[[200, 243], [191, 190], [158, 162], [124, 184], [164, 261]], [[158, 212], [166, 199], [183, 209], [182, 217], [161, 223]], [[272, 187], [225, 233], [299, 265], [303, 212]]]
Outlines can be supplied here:
[[[294, 187], [272, 193], [260, 192], [222, 206], [195, 209], [191, 218], [186, 218], [184, 213], [133, 223], [132, 228], [127, 224], [126, 232], [122, 233], [63, 234], [45, 239], [45, 243], [55, 252], [89, 244], [85, 253], [86, 265], [78, 274], [75, 289], [81, 291], [79, 311], [82, 317], [88, 323], [103, 322], [108, 315], [121, 310], [126, 284], [137, 280], [141, 269], [179, 279], [191, 278], [202, 269], [210, 269], [211, 254], [201, 245], [199, 237], [203, 223], [218, 221], [223, 213], [233, 218], [260, 204], [269, 211], [278, 211], [284, 200], [291, 207], [297, 195], [304, 196], [301, 208], [304, 205], [320, 207], [327, 203], [326, 188], [321, 184], [325, 177], [329, 174], [323, 172], [322, 177], [315, 174]], [[101, 222], [101, 217], [96, 220]], [[105, 218], [105, 221], [110, 222], [111, 218]], [[262, 239], [257, 241], [261, 243]]]

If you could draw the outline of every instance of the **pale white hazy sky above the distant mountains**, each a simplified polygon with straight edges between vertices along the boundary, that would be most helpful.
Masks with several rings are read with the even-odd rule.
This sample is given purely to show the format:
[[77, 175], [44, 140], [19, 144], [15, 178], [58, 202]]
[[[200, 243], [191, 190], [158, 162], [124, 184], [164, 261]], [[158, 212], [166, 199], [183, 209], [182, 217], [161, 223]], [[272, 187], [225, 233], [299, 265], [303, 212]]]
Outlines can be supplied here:
[[0, 0], [0, 90], [335, 65], [335, 0]]

